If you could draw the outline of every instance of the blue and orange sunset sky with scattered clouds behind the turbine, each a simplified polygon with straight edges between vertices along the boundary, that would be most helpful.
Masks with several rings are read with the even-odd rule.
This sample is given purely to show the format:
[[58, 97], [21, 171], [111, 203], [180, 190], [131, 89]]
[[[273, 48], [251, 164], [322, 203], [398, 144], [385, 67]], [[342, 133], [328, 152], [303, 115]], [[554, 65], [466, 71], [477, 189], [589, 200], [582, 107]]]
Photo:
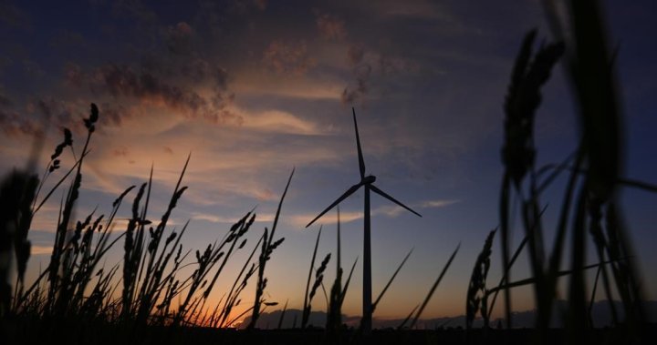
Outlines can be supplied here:
[[[625, 176], [655, 183], [657, 5], [649, 0], [601, 5], [610, 42], [619, 47]], [[81, 119], [93, 102], [100, 117], [82, 171], [78, 218], [94, 208], [110, 212], [120, 192], [148, 180], [152, 166], [150, 217], [159, 219], [191, 155], [183, 178], [189, 189], [173, 212], [172, 227], [190, 219], [183, 244], [204, 249], [255, 208], [249, 244], [231, 267], [236, 273], [249, 247], [271, 227], [295, 169], [276, 230], [276, 238], [286, 239], [266, 267], [266, 299], [301, 308], [320, 225], [318, 257], [333, 252], [335, 258], [335, 211], [305, 226], [360, 180], [354, 107], [367, 173], [377, 177], [376, 186], [422, 214], [418, 218], [372, 195], [375, 298], [413, 249], [374, 317], [405, 317], [459, 244], [423, 316], [461, 315], [474, 260], [499, 219], [509, 74], [523, 36], [535, 27], [540, 41], [552, 39], [537, 0], [3, 0], [1, 171], [24, 167], [39, 133], [46, 137], [39, 159], [45, 169], [63, 127], [73, 131], [79, 153], [86, 135]], [[543, 89], [538, 166], [560, 162], [578, 140], [563, 72], [559, 65]], [[67, 152], [62, 166], [72, 161]], [[547, 190], [546, 203], [558, 205], [562, 192], [559, 179]], [[58, 198], [36, 215], [28, 277], [46, 265]], [[657, 299], [651, 266], [657, 261], [657, 196], [623, 189], [620, 198], [644, 290]], [[360, 191], [340, 207], [342, 264], [347, 269], [359, 260], [343, 309], [349, 315], [360, 314], [362, 202]], [[547, 210], [548, 238], [557, 212]], [[118, 217], [130, 217], [130, 202]], [[518, 229], [516, 244], [520, 236]], [[525, 258], [514, 270], [518, 279], [528, 277]], [[119, 260], [120, 251], [107, 264]], [[496, 282], [500, 270], [495, 240], [489, 281]], [[329, 265], [326, 281], [333, 276]], [[224, 277], [221, 287], [232, 277]], [[531, 297], [530, 289], [514, 291], [514, 308], [532, 309]], [[252, 290], [244, 298], [253, 300]], [[323, 296], [313, 308], [326, 308]]]

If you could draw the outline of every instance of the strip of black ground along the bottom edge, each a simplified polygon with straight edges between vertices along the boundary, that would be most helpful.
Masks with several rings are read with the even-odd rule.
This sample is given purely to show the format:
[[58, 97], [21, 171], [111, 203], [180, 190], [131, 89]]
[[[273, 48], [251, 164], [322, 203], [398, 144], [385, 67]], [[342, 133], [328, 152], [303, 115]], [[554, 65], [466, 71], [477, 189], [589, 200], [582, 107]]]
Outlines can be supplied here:
[[[568, 332], [548, 330], [542, 338], [531, 329], [472, 330], [373, 330], [363, 337], [355, 330], [344, 330], [339, 339], [329, 340], [324, 330], [216, 330], [207, 328], [148, 327], [110, 325], [88, 320], [5, 320], [1, 344], [566, 344]], [[657, 325], [641, 330], [641, 340], [629, 341], [627, 332], [620, 329], [593, 329], [582, 332], [578, 345], [653, 344], [657, 340]]]

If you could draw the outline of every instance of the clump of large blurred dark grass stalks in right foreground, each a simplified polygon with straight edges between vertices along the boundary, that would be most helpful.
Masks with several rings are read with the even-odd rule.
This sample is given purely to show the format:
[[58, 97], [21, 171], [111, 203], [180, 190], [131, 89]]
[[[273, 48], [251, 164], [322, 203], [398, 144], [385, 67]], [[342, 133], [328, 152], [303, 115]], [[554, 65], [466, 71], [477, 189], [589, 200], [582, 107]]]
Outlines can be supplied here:
[[[553, 1], [544, 1], [548, 20], [557, 43], [541, 46], [536, 55], [532, 46], [536, 30], [527, 34], [511, 75], [505, 102], [505, 143], [502, 160], [505, 173], [500, 193], [500, 240], [504, 280], [511, 281], [512, 259], [510, 208], [516, 194], [521, 206], [521, 224], [525, 230], [527, 254], [532, 273], [537, 308], [539, 341], [546, 341], [551, 313], [558, 298], [558, 277], [568, 276], [568, 310], [565, 324], [569, 342], [584, 340], [589, 323], [590, 306], [587, 305], [586, 249], [588, 233], [598, 255], [602, 286], [614, 318], [615, 326], [622, 326], [628, 341], [638, 336], [643, 322], [641, 285], [633, 263], [633, 254], [627, 228], [622, 221], [618, 202], [618, 187], [622, 178], [622, 122], [620, 96], [614, 76], [613, 58], [607, 46], [605, 27], [599, 2], [592, 0], [566, 2], [565, 16], [558, 15]], [[572, 35], [566, 35], [571, 33]], [[568, 47], [568, 49], [566, 49]], [[550, 75], [560, 56], [566, 56], [566, 74], [575, 94], [580, 124], [579, 147], [574, 161], [568, 157], [561, 167], [547, 178], [535, 165], [534, 117], [541, 101], [540, 88]], [[572, 161], [572, 163], [571, 163]], [[548, 251], [544, 242], [540, 211], [541, 192], [556, 175], [568, 170], [568, 183], [564, 191], [558, 216], [554, 247]], [[647, 190], [650, 190], [647, 188]], [[587, 231], [588, 230], [588, 231]], [[564, 249], [568, 248], [570, 269], [561, 270]], [[514, 258], [515, 260], [515, 258]], [[611, 274], [608, 272], [610, 269]], [[500, 286], [502, 286], [502, 282]], [[502, 288], [505, 294], [506, 327], [513, 327], [511, 315], [511, 288]], [[622, 301], [624, 320], [613, 307], [613, 291]], [[591, 302], [593, 298], [591, 299]]]

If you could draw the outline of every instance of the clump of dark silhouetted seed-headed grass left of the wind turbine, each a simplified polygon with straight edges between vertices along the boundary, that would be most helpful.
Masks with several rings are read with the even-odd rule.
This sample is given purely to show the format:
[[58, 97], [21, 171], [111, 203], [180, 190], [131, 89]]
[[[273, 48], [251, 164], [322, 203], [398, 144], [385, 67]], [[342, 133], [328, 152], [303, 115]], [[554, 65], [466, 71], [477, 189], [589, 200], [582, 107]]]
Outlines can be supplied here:
[[[270, 235], [267, 235], [266, 229], [265, 235], [245, 260], [227, 296], [216, 306], [205, 306], [228, 260], [233, 257], [235, 251], [245, 247], [245, 235], [255, 221], [255, 213], [248, 212], [228, 230], [224, 238], [208, 245], [203, 255], [196, 250], [195, 261], [183, 263], [192, 251], [184, 250], [181, 243], [187, 224], [178, 231], [169, 229], [168, 221], [186, 190], [182, 182], [190, 160], [190, 157], [187, 157], [168, 206], [156, 226], [152, 225], [149, 215], [152, 167], [149, 181], [137, 189], [132, 202], [131, 217], [119, 235], [112, 236], [114, 229], [118, 228], [115, 219], [123, 200], [129, 197], [135, 186], [127, 188], [112, 203], [109, 217], [97, 214], [98, 210], [95, 209], [86, 218], [75, 220], [74, 210], [82, 186], [84, 158], [89, 155], [89, 144], [98, 121], [99, 109], [92, 104], [89, 118], [83, 119], [87, 138], [77, 158], [72, 134], [68, 129], [64, 129], [64, 140], [57, 145], [40, 181], [34, 174], [18, 171], [3, 179], [0, 188], [0, 249], [2, 255], [16, 255], [18, 274], [16, 284], [12, 287], [8, 280], [11, 270], [8, 264], [11, 261], [2, 261], [2, 330], [5, 330], [5, 320], [8, 320], [8, 317], [18, 318], [16, 320], [53, 320], [61, 325], [80, 322], [80, 327], [92, 320], [99, 320], [109, 322], [108, 327], [125, 324], [137, 327], [133, 330], [138, 331], [156, 325], [229, 327], [235, 320], [243, 317], [245, 312], [252, 309], [257, 312], [259, 304], [276, 305], [260, 297], [266, 288], [265, 263], [283, 241], [282, 238], [273, 241], [273, 237], [289, 180], [286, 192], [278, 205]], [[39, 199], [45, 180], [57, 174], [62, 164], [62, 155], [68, 147], [74, 157], [72, 167], [57, 179], [45, 197]], [[50, 261], [46, 269], [25, 289], [24, 274], [30, 248], [27, 236], [31, 220], [67, 181], [69, 187], [60, 203]], [[108, 251], [121, 238], [123, 255], [120, 263], [110, 269], [99, 267], [100, 262], [107, 260]], [[262, 249], [260, 259], [259, 262], [253, 263], [252, 259], [258, 248]], [[196, 269], [191, 275], [181, 278], [181, 269], [186, 266], [195, 266]], [[232, 311], [240, 304], [240, 296], [256, 270], [258, 303], [235, 317]], [[179, 302], [175, 303], [175, 300]]]

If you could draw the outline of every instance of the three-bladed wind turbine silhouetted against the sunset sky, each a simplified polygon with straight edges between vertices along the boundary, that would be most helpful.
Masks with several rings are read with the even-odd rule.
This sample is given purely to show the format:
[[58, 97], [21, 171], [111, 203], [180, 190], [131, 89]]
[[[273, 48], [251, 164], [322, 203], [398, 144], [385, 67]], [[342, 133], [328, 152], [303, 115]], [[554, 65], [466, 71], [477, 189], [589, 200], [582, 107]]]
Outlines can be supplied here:
[[318, 217], [312, 219], [306, 228], [308, 228], [310, 225], [312, 225], [318, 218], [324, 216], [331, 208], [336, 207], [342, 200], [345, 198], [348, 198], [351, 194], [356, 192], [359, 188], [364, 187], [365, 188], [365, 208], [364, 208], [364, 239], [363, 239], [363, 320], [362, 320], [362, 329], [366, 334], [370, 333], [371, 330], [371, 250], [370, 250], [370, 190], [373, 191], [376, 194], [379, 194], [383, 198], [387, 198], [394, 202], [395, 204], [401, 206], [402, 208], [406, 208], [412, 213], [416, 214], [419, 217], [422, 217], [419, 213], [413, 211], [411, 208], [407, 207], [406, 205], [402, 204], [395, 198], [392, 198], [390, 195], [388, 195], [386, 192], [382, 191], [381, 189], [377, 188], [376, 186], [373, 185], [374, 181], [376, 181], [376, 177], [372, 175], [365, 176], [365, 161], [362, 156], [362, 150], [360, 148], [360, 137], [359, 137], [359, 132], [358, 132], [358, 123], [356, 122], [356, 110], [354, 108], [351, 108], [351, 112], [353, 114], [354, 118], [354, 128], [356, 128], [356, 147], [358, 148], [358, 155], [359, 155], [359, 167], [360, 167], [360, 182], [351, 186], [351, 188], [347, 189], [344, 194], [342, 194], [337, 200], [333, 201], [332, 204], [328, 206], [328, 208], [324, 209]]

